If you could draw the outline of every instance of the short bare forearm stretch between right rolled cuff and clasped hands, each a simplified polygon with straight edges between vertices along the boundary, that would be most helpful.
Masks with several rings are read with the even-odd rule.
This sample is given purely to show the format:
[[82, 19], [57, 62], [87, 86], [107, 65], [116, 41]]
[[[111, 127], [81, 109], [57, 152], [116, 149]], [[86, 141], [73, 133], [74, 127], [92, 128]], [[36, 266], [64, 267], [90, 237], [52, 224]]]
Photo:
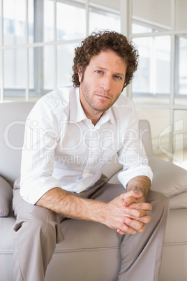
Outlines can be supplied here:
[[147, 195], [149, 194], [150, 186], [151, 180], [144, 175], [139, 175], [128, 182], [126, 189], [127, 192], [133, 190], [137, 193], [142, 194], [142, 198], [140, 199], [140, 201], [145, 202], [147, 199]]

